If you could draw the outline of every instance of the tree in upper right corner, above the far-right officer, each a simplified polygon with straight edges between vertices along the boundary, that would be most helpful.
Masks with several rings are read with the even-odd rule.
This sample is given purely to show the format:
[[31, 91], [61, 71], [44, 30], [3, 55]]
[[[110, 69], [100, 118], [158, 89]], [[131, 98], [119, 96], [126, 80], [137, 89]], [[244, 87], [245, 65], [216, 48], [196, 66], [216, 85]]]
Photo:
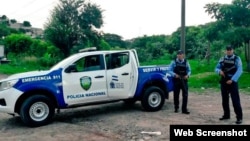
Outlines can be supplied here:
[[[235, 47], [249, 44], [250, 0], [233, 0], [232, 4], [212, 3], [207, 4], [205, 8], [206, 12], [213, 18], [227, 24], [227, 30], [222, 34], [225, 42]], [[246, 58], [249, 58], [249, 56], [246, 56]], [[247, 68], [250, 68], [249, 60], [247, 60], [247, 66]], [[248, 69], [248, 71], [250, 70]]]

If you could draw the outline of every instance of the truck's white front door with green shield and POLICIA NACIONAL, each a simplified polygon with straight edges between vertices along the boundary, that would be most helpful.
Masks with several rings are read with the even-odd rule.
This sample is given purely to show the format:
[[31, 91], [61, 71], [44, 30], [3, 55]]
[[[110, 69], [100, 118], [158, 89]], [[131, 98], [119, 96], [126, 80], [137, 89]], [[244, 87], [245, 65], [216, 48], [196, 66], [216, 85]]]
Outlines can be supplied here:
[[64, 100], [69, 105], [108, 99], [103, 54], [85, 56], [72, 65], [75, 71], [63, 72]]

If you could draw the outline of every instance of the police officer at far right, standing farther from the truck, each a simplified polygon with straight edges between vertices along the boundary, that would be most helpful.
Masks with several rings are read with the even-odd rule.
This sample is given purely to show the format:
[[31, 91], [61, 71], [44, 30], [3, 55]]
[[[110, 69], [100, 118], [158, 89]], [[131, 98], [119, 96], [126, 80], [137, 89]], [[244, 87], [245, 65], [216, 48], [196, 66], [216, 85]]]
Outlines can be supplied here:
[[242, 108], [240, 103], [238, 79], [242, 74], [241, 58], [234, 54], [232, 46], [226, 47], [226, 55], [216, 65], [215, 72], [221, 76], [220, 88], [224, 114], [219, 120], [230, 119], [229, 95], [232, 99], [236, 124], [242, 123]]

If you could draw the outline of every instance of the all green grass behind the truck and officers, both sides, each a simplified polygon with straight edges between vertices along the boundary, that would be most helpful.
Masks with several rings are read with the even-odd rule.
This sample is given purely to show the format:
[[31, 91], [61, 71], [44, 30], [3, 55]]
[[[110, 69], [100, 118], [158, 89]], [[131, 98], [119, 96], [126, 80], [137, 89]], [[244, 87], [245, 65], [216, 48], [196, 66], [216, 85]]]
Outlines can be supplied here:
[[[141, 63], [141, 65], [163, 65], [169, 64], [171, 60], [152, 60], [150, 62]], [[220, 77], [214, 72], [217, 60], [211, 60], [210, 63], [206, 61], [189, 60], [191, 66], [191, 76], [189, 79], [189, 88], [194, 90], [219, 89]], [[246, 63], [243, 62], [243, 69], [246, 68]], [[19, 72], [27, 72], [33, 70], [41, 70], [48, 68], [41, 68], [36, 61], [16, 61], [15, 63], [0, 65], [0, 73], [14, 74]], [[244, 69], [245, 70], [245, 69]], [[250, 73], [244, 71], [239, 79], [239, 88], [250, 93]]]

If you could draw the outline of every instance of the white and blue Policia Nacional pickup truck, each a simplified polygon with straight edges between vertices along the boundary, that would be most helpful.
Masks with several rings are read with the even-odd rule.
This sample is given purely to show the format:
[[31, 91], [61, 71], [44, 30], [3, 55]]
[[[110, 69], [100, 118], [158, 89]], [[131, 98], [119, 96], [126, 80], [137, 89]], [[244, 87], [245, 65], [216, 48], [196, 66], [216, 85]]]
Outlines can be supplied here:
[[145, 111], [158, 111], [171, 91], [168, 65], [140, 66], [135, 49], [85, 50], [47, 71], [0, 80], [0, 112], [38, 127], [50, 123], [56, 110], [121, 100], [141, 101]]

